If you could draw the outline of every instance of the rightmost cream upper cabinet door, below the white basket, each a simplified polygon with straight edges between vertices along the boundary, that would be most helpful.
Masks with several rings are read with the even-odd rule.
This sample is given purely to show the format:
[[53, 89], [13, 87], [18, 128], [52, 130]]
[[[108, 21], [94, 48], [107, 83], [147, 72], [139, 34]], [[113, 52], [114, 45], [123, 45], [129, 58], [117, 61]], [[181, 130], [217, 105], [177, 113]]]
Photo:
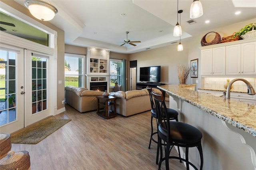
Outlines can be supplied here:
[[241, 74], [256, 74], [256, 42], [241, 44]]

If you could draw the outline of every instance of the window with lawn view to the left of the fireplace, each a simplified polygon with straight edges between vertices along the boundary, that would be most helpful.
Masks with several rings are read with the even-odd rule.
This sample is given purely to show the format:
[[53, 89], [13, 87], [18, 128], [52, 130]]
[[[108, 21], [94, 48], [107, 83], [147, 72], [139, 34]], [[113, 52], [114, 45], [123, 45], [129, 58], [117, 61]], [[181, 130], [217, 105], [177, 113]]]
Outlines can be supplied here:
[[65, 87], [83, 87], [84, 55], [65, 53]]

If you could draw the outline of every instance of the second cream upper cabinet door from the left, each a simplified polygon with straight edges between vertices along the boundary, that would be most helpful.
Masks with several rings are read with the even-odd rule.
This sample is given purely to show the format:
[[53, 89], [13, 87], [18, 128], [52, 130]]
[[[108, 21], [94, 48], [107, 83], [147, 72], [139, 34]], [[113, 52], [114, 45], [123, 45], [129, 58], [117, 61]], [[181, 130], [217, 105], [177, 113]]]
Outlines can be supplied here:
[[225, 75], [226, 73], [226, 47], [212, 49], [212, 75]]

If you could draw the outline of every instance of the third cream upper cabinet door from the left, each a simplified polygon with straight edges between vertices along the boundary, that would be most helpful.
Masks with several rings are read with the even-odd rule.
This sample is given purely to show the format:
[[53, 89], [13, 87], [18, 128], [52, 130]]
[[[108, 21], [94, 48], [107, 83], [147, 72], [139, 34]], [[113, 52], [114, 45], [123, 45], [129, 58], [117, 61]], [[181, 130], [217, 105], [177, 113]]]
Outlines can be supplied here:
[[241, 74], [241, 45], [226, 46], [226, 75]]

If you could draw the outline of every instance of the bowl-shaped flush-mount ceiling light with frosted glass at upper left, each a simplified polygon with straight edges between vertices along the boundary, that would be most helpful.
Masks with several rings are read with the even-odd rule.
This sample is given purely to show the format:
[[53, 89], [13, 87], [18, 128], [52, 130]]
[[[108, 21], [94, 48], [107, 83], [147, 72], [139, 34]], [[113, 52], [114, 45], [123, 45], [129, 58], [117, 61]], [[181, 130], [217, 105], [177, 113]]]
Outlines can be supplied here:
[[50, 21], [58, 13], [58, 10], [48, 2], [43, 0], [25, 0], [24, 4], [38, 20]]

